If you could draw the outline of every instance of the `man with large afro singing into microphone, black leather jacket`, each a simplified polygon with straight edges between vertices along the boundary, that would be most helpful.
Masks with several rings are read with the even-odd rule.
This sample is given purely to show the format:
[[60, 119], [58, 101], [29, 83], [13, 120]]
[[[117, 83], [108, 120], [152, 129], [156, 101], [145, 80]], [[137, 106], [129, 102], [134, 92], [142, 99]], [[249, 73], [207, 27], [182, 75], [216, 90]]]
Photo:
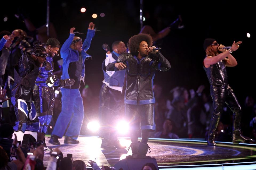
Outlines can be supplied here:
[[[167, 71], [169, 61], [158, 51], [152, 37], [140, 33], [129, 40], [131, 53], [121, 54], [116, 63], [109, 63], [107, 71], [126, 69], [125, 116], [130, 122], [132, 156], [127, 158], [145, 158], [150, 131], [155, 131], [154, 103], [152, 90], [155, 70]], [[116, 67], [116, 68], [115, 68]], [[142, 130], [142, 141], [138, 142], [138, 131]]]

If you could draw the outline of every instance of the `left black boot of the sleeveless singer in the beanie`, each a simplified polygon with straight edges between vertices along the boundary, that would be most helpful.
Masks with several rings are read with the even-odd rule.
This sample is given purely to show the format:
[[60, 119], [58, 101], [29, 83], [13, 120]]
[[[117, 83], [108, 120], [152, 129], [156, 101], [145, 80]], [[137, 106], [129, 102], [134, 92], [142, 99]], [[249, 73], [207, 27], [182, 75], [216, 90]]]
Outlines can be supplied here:
[[210, 123], [210, 126], [209, 126], [207, 145], [210, 145], [210, 146], [215, 146], [216, 145], [216, 143], [214, 142], [214, 137], [215, 137], [214, 133], [215, 133], [215, 130], [218, 126], [218, 123], [219, 123], [218, 114], [217, 115], [213, 114], [213, 116], [211, 118], [211, 123]]

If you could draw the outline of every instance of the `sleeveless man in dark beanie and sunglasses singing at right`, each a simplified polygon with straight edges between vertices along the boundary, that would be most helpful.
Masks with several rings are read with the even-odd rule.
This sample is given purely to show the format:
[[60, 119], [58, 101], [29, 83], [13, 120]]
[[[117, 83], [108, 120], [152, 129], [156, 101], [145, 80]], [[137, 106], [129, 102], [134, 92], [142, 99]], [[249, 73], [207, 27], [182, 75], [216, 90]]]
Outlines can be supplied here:
[[234, 67], [237, 61], [231, 55], [239, 48], [241, 41], [232, 44], [230, 49], [223, 49], [214, 39], [205, 39], [203, 48], [206, 57], [203, 60], [203, 67], [210, 82], [210, 93], [213, 99], [213, 115], [209, 126], [208, 145], [215, 146], [214, 132], [218, 126], [219, 118], [223, 112], [223, 105], [226, 103], [233, 112], [233, 144], [245, 142], [248, 139], [240, 134], [241, 130], [241, 107], [237, 98], [227, 81], [227, 67]]

